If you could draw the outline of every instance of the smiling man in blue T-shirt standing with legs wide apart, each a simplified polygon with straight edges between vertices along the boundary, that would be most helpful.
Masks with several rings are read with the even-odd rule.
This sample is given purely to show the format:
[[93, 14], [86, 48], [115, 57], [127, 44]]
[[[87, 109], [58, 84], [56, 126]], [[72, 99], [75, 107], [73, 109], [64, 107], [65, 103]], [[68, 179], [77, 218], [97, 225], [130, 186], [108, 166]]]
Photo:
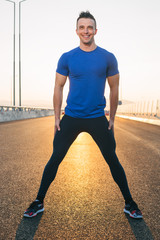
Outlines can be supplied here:
[[[81, 132], [88, 132], [108, 163], [113, 179], [125, 200], [124, 212], [132, 218], [142, 218], [133, 201], [126, 175], [115, 153], [114, 119], [118, 103], [119, 71], [115, 56], [95, 44], [96, 20], [89, 12], [81, 12], [76, 33], [80, 46], [64, 53], [59, 59], [55, 89], [55, 128], [53, 154], [47, 163], [36, 200], [25, 211], [25, 217], [34, 217], [44, 211], [43, 200], [54, 180], [58, 166], [69, 147]], [[67, 77], [70, 89], [65, 115], [60, 120], [62, 93]], [[110, 86], [110, 119], [105, 117], [104, 97], [106, 78]]]

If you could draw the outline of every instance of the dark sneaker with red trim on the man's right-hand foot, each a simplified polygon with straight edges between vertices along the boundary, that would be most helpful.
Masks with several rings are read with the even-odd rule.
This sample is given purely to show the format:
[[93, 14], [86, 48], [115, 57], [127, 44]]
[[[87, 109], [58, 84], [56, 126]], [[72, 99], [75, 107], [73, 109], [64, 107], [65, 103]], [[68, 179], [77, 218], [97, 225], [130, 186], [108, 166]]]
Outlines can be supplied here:
[[134, 201], [129, 204], [125, 204], [124, 212], [129, 214], [131, 218], [143, 218], [142, 212], [139, 210], [137, 204]]

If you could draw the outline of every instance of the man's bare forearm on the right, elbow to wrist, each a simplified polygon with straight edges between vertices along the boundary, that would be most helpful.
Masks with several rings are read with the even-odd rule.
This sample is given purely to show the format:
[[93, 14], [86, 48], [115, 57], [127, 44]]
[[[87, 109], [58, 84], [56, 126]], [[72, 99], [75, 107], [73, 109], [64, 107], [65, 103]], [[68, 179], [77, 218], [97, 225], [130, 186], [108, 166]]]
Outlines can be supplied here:
[[110, 119], [114, 121], [118, 106], [118, 87], [110, 90]]

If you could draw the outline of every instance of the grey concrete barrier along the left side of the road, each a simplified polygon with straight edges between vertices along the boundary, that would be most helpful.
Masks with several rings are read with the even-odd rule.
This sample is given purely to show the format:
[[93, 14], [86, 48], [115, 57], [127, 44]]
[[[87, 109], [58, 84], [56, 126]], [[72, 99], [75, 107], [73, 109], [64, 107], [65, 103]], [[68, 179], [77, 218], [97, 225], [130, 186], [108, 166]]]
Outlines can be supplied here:
[[0, 106], [0, 122], [39, 118], [54, 115], [53, 109]]

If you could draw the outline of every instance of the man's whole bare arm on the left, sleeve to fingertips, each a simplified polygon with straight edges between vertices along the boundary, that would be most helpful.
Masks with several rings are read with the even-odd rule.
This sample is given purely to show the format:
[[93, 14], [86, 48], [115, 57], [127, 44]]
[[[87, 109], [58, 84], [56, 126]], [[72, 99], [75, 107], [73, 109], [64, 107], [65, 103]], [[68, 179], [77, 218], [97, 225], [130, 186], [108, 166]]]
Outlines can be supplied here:
[[63, 99], [63, 87], [66, 83], [67, 76], [56, 73], [55, 87], [54, 87], [54, 95], [53, 95], [53, 106], [54, 106], [54, 114], [55, 114], [55, 127], [54, 127], [54, 135], [56, 131], [60, 131], [60, 115], [61, 115], [61, 106]]

